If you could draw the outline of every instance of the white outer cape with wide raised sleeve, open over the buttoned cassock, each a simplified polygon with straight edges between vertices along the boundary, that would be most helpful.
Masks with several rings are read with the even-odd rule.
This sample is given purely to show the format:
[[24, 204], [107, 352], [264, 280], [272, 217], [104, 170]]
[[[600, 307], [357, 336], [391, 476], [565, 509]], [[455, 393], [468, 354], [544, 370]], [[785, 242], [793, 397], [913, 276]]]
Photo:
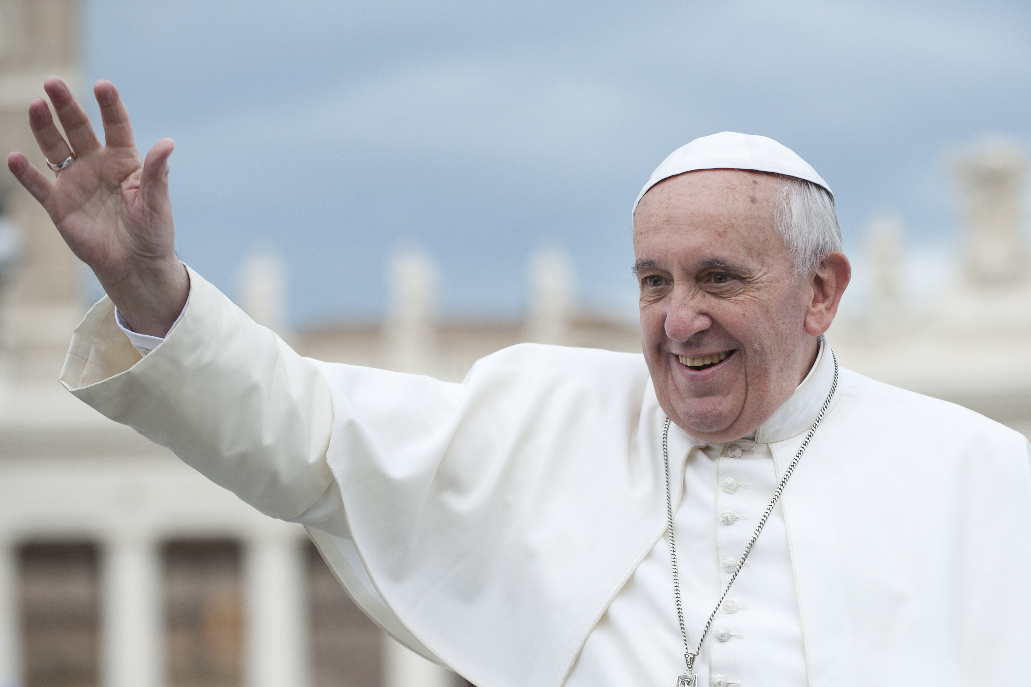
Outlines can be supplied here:
[[[335, 482], [355, 551], [413, 638], [480, 687], [561, 685], [665, 529], [663, 416], [641, 356], [522, 345], [462, 384], [318, 363], [191, 278], [181, 321], [142, 359], [109, 302], [95, 306], [62, 382], [263, 512], [297, 519]], [[777, 471], [827, 369], [756, 434]], [[670, 433], [677, 504], [701, 443]], [[1026, 682], [1022, 436], [842, 370], [783, 506], [808, 684]], [[354, 557], [327, 557], [356, 576]], [[762, 631], [730, 642], [751, 651]]]

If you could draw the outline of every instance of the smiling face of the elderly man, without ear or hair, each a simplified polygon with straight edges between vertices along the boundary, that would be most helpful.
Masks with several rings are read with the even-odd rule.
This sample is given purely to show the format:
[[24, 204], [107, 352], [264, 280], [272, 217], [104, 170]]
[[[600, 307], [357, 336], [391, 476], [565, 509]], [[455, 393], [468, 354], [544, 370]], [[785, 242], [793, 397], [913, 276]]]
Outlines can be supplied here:
[[705, 441], [739, 439], [805, 377], [810, 278], [776, 230], [783, 181], [702, 170], [666, 179], [634, 214], [644, 358], [670, 419]]

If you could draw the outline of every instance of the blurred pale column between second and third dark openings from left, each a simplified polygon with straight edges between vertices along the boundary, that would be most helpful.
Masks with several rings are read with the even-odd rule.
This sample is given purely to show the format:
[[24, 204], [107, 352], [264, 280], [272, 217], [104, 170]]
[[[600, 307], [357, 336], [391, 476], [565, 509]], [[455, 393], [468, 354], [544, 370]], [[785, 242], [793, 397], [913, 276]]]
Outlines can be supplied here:
[[247, 542], [244, 558], [246, 687], [309, 684], [305, 576], [299, 525], [270, 528]]

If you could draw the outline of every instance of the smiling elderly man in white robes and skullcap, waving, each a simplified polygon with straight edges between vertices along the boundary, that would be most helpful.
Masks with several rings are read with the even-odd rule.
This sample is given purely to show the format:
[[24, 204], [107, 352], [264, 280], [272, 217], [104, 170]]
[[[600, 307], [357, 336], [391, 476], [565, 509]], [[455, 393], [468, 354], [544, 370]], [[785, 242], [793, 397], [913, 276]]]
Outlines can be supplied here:
[[100, 81], [102, 146], [45, 88], [57, 178], [8, 165], [109, 297], [62, 383], [306, 524], [415, 651], [484, 687], [1031, 682], [1028, 443], [839, 369], [833, 199], [784, 146], [653, 174], [643, 356], [521, 345], [453, 384], [297, 355], [175, 257], [171, 141], [141, 160]]

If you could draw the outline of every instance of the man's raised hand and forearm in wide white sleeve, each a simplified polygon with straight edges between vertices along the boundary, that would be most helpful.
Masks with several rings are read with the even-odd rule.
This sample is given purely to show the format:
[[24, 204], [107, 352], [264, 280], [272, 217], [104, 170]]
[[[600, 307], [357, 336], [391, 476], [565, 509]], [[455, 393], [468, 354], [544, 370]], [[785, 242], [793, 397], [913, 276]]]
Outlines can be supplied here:
[[[68, 138], [42, 100], [29, 106], [32, 131], [52, 164], [70, 156], [73, 162], [56, 178], [21, 152], [7, 164], [110, 299], [95, 305], [76, 329], [61, 381], [259, 510], [303, 517], [332, 482], [326, 446], [333, 410], [325, 380], [310, 360], [200, 276], [184, 312], [191, 277], [173, 250], [172, 141], [159, 141], [141, 159], [118, 91], [98, 81], [106, 137], [101, 145], [68, 85], [52, 76], [44, 88]], [[139, 365], [111, 302], [140, 334], [165, 337], [180, 313], [185, 325], [168, 336], [160, 354]]]

